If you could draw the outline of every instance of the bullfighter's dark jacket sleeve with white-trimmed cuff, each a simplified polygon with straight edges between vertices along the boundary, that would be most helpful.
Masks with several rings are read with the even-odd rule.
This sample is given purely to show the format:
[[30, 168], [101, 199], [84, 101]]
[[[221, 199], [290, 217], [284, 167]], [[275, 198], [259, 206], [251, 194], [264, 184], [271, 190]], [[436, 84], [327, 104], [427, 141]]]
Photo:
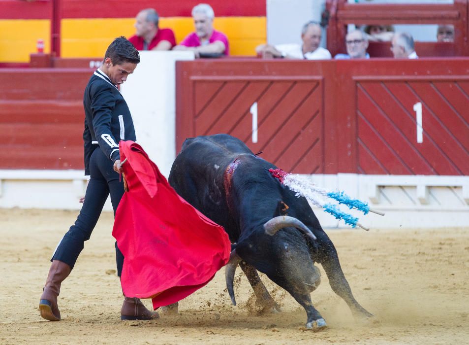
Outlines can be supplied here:
[[113, 162], [120, 159], [119, 145], [111, 132], [112, 111], [116, 105], [113, 86], [94, 87], [91, 90], [91, 111], [93, 112], [93, 129], [99, 147]]

